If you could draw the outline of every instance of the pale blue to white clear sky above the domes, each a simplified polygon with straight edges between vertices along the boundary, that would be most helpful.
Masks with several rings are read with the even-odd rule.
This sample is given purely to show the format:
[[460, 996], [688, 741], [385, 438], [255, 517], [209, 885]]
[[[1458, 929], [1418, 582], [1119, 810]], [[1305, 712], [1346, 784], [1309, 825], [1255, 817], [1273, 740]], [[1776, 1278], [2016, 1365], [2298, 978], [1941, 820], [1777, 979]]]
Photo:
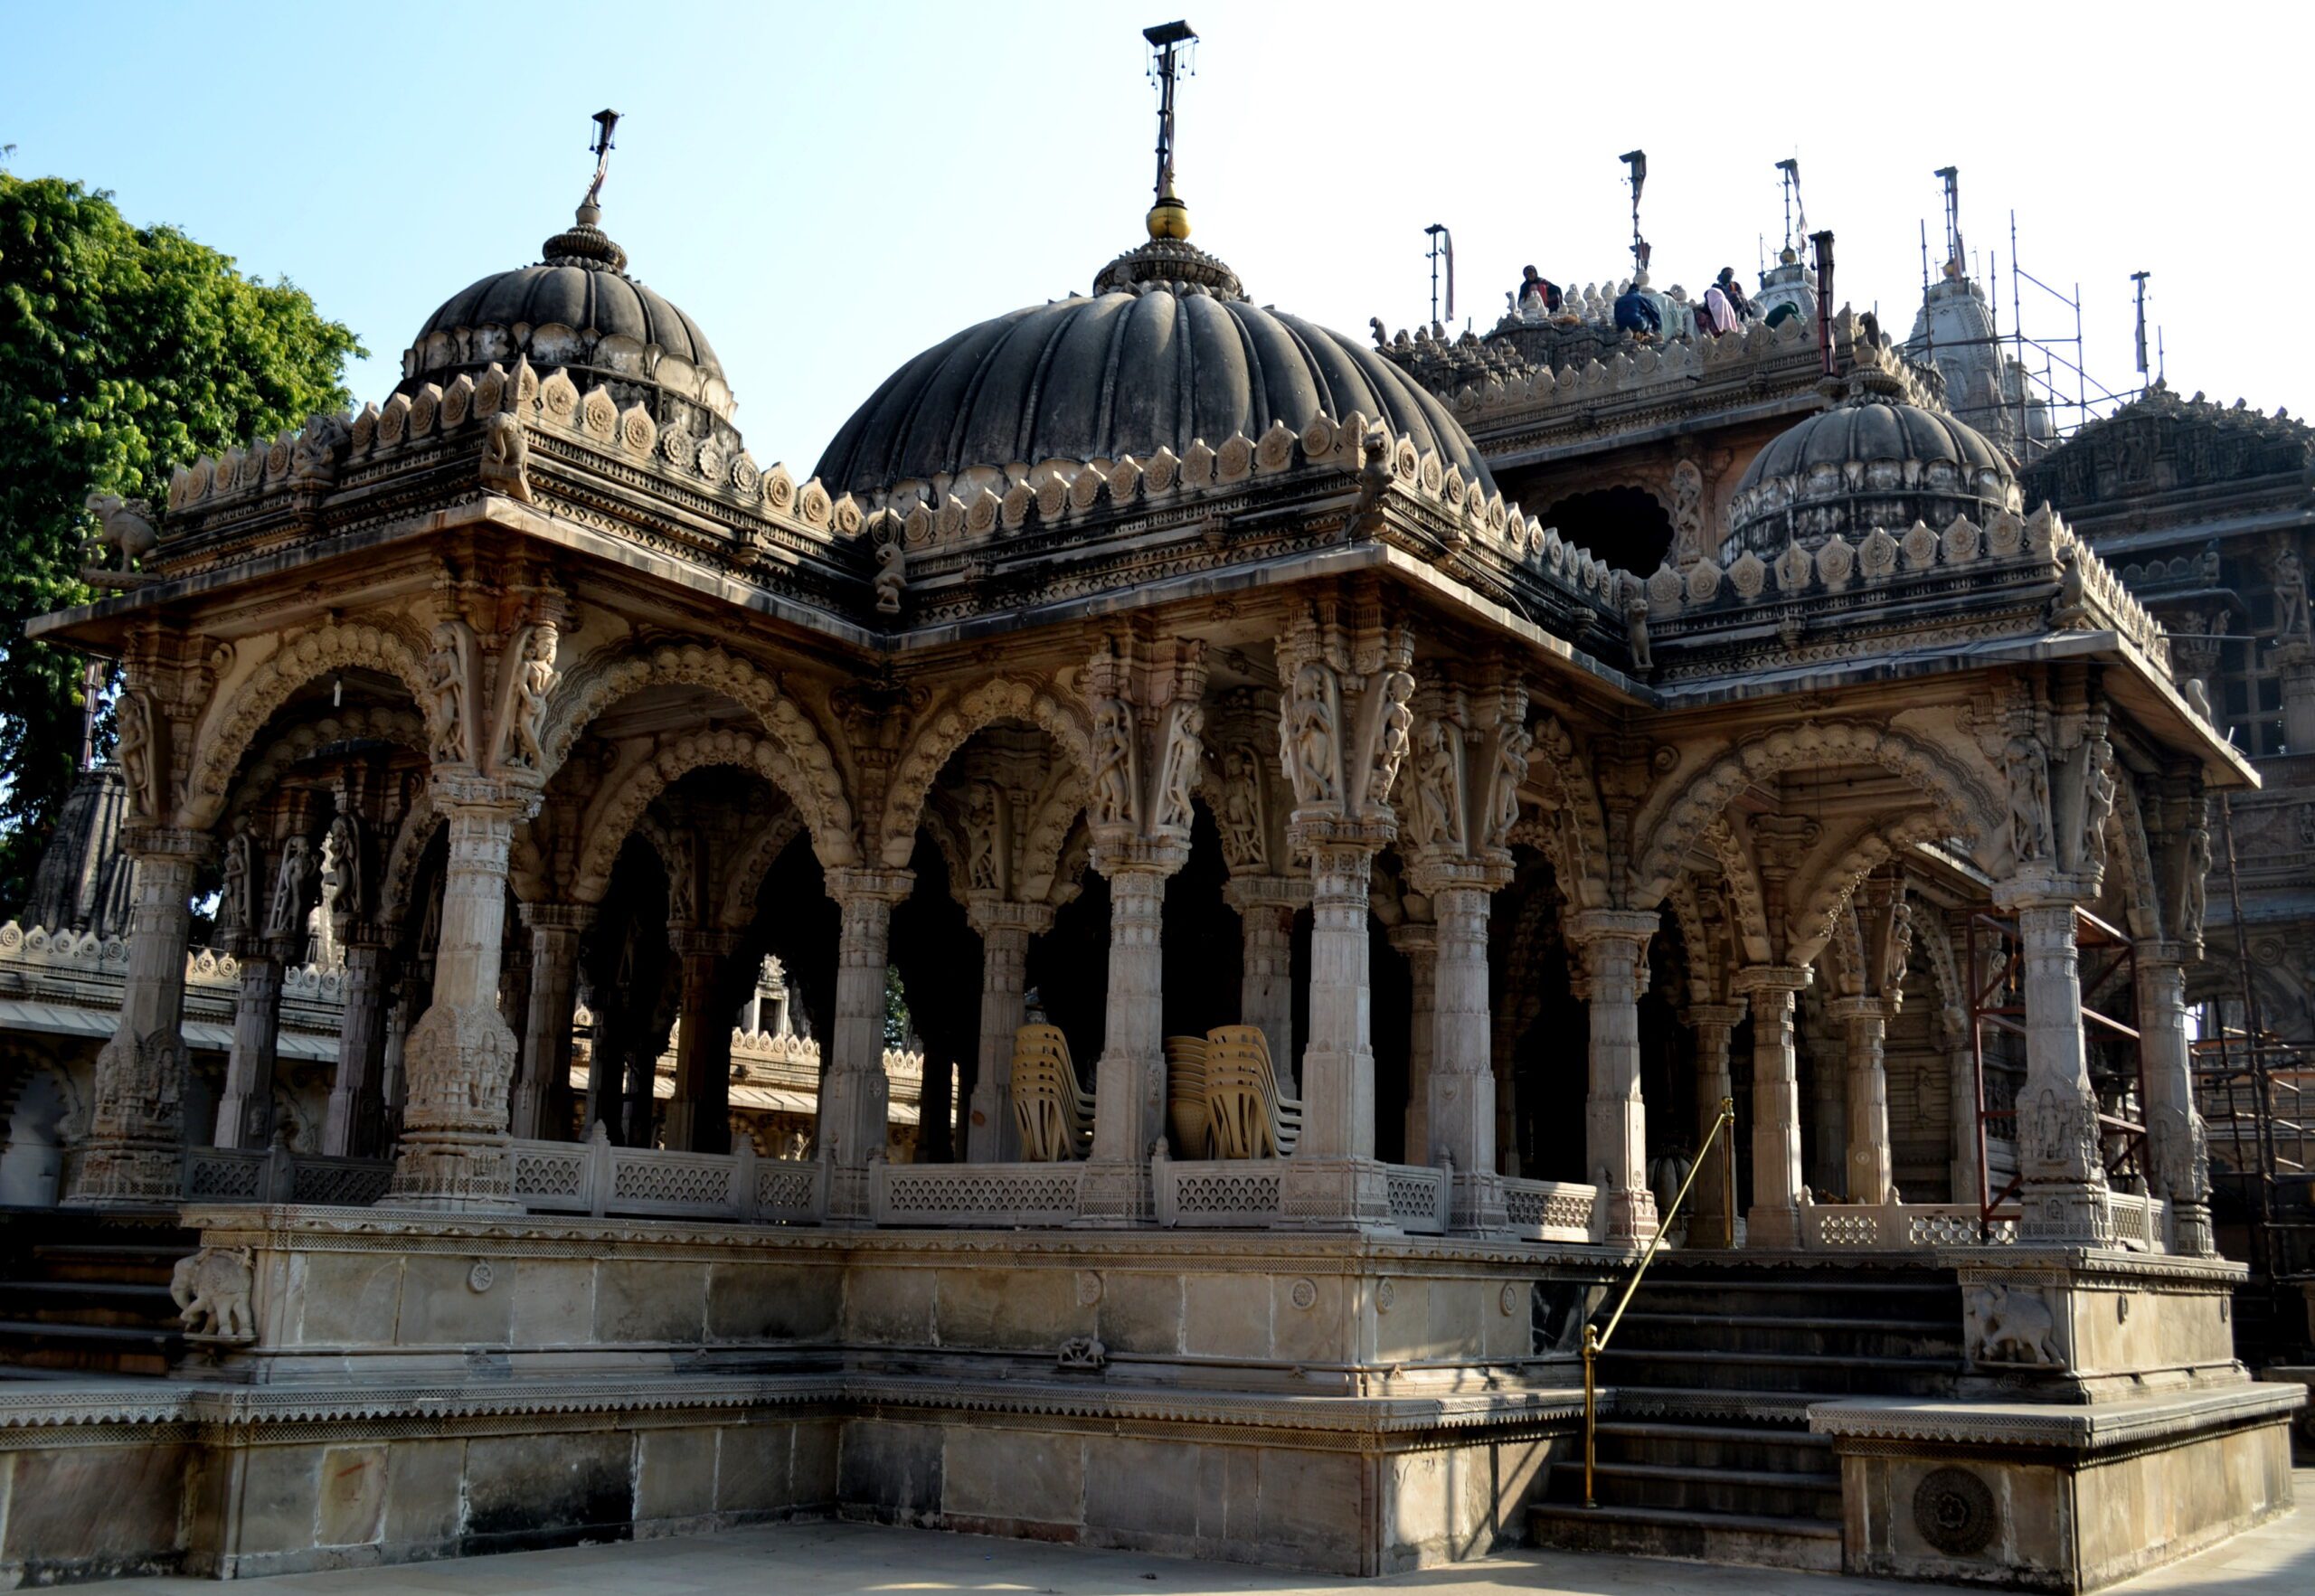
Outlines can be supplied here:
[[[567, 225], [616, 107], [604, 227], [715, 343], [757, 461], [801, 477], [903, 359], [1141, 236], [1139, 35], [1176, 5], [0, 0], [0, 144], [294, 278], [368, 345], [361, 401], [438, 301]], [[2014, 208], [2026, 266], [2081, 283], [2107, 385], [2137, 382], [2146, 269], [2174, 387], [2315, 408], [2299, 5], [1201, 5], [1181, 192], [1257, 301], [1412, 327], [1447, 222], [1486, 331], [1526, 262], [1627, 269], [1644, 146], [1658, 285], [1755, 269], [1799, 155], [1838, 296], [1903, 331], [1958, 164], [2005, 329]]]

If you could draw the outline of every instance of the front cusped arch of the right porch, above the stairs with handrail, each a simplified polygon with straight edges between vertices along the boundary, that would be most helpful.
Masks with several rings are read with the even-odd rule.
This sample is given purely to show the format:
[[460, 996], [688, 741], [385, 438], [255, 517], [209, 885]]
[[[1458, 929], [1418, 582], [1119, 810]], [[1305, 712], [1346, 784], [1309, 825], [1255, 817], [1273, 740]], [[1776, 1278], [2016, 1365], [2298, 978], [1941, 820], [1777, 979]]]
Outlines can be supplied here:
[[1671, 892], [1688, 850], [1739, 792], [1789, 769], [1838, 764], [1877, 764], [1908, 783], [1931, 801], [1938, 834], [1961, 839], [1972, 852], [1998, 834], [2002, 806], [1938, 748], [1887, 725], [1803, 720], [1725, 748], [1664, 799], [1637, 855], [1632, 906], [1653, 908]]

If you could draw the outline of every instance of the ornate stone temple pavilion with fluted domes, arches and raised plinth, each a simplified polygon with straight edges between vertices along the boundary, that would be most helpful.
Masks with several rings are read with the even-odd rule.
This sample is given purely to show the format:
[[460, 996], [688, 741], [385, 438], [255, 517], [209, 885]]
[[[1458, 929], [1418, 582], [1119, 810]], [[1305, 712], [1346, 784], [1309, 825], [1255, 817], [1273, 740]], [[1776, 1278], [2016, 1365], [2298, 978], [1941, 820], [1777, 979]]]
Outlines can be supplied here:
[[39, 931], [118, 1017], [7, 1216], [9, 1575], [857, 1515], [2072, 1591], [2290, 1506], [2188, 984], [2262, 751], [2042, 503], [2130, 415], [2046, 489], [1847, 310], [1370, 347], [1146, 232], [792, 470], [590, 190], [35, 623], [120, 662], [130, 885]]

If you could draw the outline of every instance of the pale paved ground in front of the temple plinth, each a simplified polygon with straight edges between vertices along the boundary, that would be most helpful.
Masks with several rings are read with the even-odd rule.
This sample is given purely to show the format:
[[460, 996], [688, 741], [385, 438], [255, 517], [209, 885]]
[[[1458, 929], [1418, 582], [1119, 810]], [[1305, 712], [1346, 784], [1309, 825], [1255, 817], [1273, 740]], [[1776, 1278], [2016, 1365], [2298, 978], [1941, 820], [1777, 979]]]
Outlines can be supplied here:
[[[2315, 1591], [2315, 1469], [2296, 1473], [2301, 1506], [2183, 1564], [2114, 1587], [2130, 1596], [2308, 1596]], [[215, 1596], [206, 1580], [118, 1582], [123, 1596]], [[1028, 1540], [984, 1540], [873, 1524], [785, 1524], [727, 1536], [637, 1545], [521, 1552], [451, 1564], [405, 1564], [347, 1573], [282, 1575], [264, 1596], [838, 1596], [852, 1591], [1007, 1591], [1039, 1596], [1315, 1596], [1317, 1591], [1419, 1591], [1421, 1596], [1891, 1596], [1931, 1589], [1766, 1568], [1671, 1564], [1644, 1557], [1514, 1552], [1394, 1580], [1326, 1582], [1227, 1564], [1188, 1564], [1137, 1552], [1086, 1552]]]

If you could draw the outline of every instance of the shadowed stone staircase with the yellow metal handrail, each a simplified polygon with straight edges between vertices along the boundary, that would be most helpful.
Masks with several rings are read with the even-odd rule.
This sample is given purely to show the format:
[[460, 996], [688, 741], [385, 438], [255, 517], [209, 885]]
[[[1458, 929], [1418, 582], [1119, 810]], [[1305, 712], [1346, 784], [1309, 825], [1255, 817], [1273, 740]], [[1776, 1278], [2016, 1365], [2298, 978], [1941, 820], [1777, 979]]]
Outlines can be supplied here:
[[1808, 1404], [1952, 1394], [1961, 1369], [1952, 1274], [1660, 1258], [1600, 1360], [1600, 1506], [1577, 1441], [1528, 1538], [1838, 1571], [1840, 1469]]

